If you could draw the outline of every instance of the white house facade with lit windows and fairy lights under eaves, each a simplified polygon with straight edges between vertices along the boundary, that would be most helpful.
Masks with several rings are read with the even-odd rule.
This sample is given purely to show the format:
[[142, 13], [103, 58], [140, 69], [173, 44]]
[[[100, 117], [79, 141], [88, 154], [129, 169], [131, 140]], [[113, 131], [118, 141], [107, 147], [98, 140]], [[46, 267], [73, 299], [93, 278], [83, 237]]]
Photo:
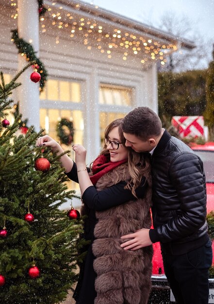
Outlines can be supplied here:
[[31, 68], [20, 78], [14, 99], [23, 118], [54, 138], [61, 118], [73, 121], [74, 142], [86, 147], [90, 162], [113, 119], [137, 106], [158, 113], [157, 61], [193, 45], [81, 1], [44, 0], [44, 6], [39, 21], [37, 0], [0, 0], [0, 70], [10, 80], [27, 63], [11, 41], [17, 28], [48, 71], [42, 92]]

